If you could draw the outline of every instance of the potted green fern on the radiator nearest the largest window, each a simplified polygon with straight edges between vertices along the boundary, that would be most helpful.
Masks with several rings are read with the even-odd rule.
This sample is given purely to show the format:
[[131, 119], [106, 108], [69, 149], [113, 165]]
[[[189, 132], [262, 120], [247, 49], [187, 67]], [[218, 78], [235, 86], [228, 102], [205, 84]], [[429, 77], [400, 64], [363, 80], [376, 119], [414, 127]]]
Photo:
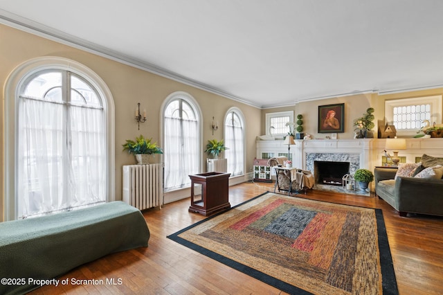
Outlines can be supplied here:
[[127, 139], [123, 145], [123, 151], [125, 150], [129, 154], [134, 154], [137, 163], [140, 165], [149, 165], [151, 154], [163, 154], [163, 150], [159, 145], [152, 143], [152, 138], [144, 138], [143, 135], [136, 137], [135, 141]]

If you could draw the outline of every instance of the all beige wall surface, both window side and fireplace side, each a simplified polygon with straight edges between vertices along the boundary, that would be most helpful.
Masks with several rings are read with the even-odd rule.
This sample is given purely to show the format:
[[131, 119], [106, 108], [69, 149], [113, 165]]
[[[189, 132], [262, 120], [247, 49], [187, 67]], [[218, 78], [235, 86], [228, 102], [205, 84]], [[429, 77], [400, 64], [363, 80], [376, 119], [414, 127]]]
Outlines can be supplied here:
[[[345, 96], [338, 98], [328, 98], [324, 100], [314, 100], [310, 102], [299, 102], [291, 107], [279, 107], [275, 109], [257, 109], [241, 102], [230, 100], [213, 93], [208, 93], [190, 87], [180, 82], [175, 82], [159, 75], [154, 75], [132, 66], [127, 66], [105, 57], [100, 57], [92, 53], [79, 50], [64, 44], [53, 42], [30, 33], [26, 33], [15, 28], [10, 28], [0, 24], [0, 84], [1, 97], [3, 102], [3, 87], [6, 78], [13, 69], [19, 64], [35, 57], [41, 56], [60, 56], [75, 60], [88, 66], [95, 71], [107, 84], [114, 96], [116, 107], [116, 134], [115, 134], [115, 150], [116, 150], [116, 199], [121, 199], [122, 192], [122, 166], [134, 163], [134, 157], [121, 152], [121, 145], [127, 138], [134, 138], [139, 134], [152, 137], [154, 141], [161, 142], [161, 134], [159, 128], [160, 110], [163, 100], [174, 91], [186, 91], [197, 100], [203, 112], [204, 134], [202, 148], [206, 145], [208, 139], [224, 137], [223, 120], [226, 111], [230, 107], [238, 107], [242, 110], [246, 118], [246, 172], [251, 171], [253, 158], [255, 157], [255, 137], [265, 134], [265, 114], [273, 111], [293, 110], [294, 115], [302, 114], [305, 128], [304, 132], [312, 134], [314, 138], [324, 138], [328, 134], [317, 133], [318, 122], [318, 105], [329, 105], [336, 103], [345, 103], [345, 132], [338, 134], [338, 138], [352, 138], [354, 136], [354, 127], [352, 123], [355, 118], [361, 116], [368, 107], [374, 107], [374, 116], [377, 122], [384, 122], [384, 101], [397, 98], [408, 98], [417, 96], [428, 96], [443, 94], [443, 89], [433, 89], [427, 91], [413, 91], [408, 93], [396, 93], [386, 96], [377, 94], [360, 94], [356, 96]], [[141, 102], [142, 109], [147, 109], [147, 122], [141, 124], [140, 131], [134, 121], [134, 109], [136, 103]], [[3, 102], [4, 103], [4, 102]], [[3, 155], [4, 146], [8, 138], [3, 138], [4, 116], [3, 103], [1, 104], [1, 144], [0, 152]], [[212, 135], [210, 124], [213, 116], [219, 121], [219, 129]], [[384, 123], [383, 123], [384, 124]], [[153, 159], [155, 162], [160, 161], [160, 157]], [[206, 161], [206, 156], [203, 156]], [[4, 168], [3, 157], [1, 166]], [[3, 169], [0, 171], [1, 181], [1, 197], [0, 212], [3, 214]], [[0, 218], [3, 220], [3, 218]]]

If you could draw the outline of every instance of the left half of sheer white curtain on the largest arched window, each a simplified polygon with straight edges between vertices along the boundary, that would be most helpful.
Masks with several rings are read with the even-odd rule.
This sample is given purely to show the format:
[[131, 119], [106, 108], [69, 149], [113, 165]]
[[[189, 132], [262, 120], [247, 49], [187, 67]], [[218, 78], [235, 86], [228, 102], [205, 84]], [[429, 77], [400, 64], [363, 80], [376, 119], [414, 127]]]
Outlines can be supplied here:
[[19, 100], [18, 217], [66, 206], [63, 108], [56, 103]]

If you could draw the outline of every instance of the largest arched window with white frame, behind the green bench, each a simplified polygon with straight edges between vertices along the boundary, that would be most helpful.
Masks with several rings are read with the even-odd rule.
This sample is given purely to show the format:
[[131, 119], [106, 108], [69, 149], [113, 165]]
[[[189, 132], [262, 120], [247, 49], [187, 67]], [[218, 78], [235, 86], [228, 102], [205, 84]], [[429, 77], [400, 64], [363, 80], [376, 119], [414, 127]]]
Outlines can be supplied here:
[[114, 170], [114, 124], [107, 125], [114, 120], [111, 94], [84, 66], [58, 57], [53, 62], [59, 63], [47, 57], [28, 62], [9, 84], [10, 96], [12, 90], [15, 95], [7, 109], [17, 120], [7, 120], [13, 133], [8, 140], [19, 144], [7, 147], [15, 159], [13, 167], [8, 163], [9, 172], [15, 172], [8, 219], [114, 200], [109, 185], [114, 181], [109, 173]]

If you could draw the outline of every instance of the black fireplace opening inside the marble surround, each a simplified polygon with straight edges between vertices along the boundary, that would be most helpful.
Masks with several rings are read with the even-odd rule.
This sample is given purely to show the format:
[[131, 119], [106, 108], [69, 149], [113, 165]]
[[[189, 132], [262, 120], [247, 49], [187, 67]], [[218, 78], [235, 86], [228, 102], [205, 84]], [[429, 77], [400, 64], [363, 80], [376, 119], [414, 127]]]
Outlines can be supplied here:
[[349, 173], [349, 162], [314, 161], [316, 184], [342, 185], [343, 176]]

